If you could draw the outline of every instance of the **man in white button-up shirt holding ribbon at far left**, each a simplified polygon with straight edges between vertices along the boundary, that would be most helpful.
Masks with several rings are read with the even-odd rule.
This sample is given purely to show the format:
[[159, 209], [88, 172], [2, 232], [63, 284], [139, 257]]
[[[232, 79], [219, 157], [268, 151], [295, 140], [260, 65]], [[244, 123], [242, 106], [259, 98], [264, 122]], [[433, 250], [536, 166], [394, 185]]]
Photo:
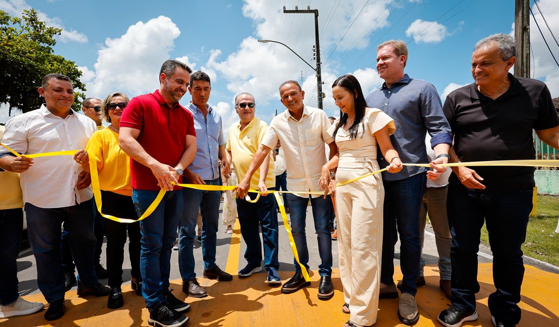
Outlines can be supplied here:
[[[24, 155], [83, 149], [95, 123], [70, 108], [74, 88], [68, 76], [48, 74], [39, 88], [46, 104], [6, 123], [4, 144]], [[74, 162], [75, 161], [75, 162]], [[78, 269], [78, 295], [107, 296], [94, 270], [94, 206], [90, 186], [80, 172], [88, 165], [83, 150], [70, 156], [32, 159], [0, 150], [0, 168], [20, 173], [31, 248], [37, 262], [37, 285], [49, 302], [46, 320], [64, 315], [64, 273], [60, 260], [60, 225], [70, 232], [70, 246]]]

